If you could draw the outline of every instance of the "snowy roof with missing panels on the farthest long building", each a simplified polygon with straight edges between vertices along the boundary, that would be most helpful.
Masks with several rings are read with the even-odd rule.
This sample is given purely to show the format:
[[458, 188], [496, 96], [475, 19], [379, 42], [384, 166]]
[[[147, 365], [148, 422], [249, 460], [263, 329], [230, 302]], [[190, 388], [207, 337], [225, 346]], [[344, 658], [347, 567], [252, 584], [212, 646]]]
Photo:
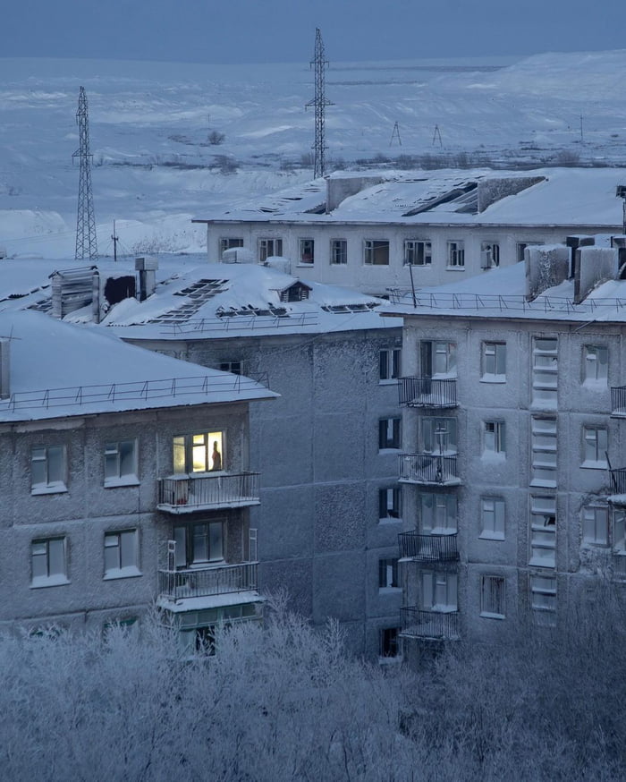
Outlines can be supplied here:
[[[347, 180], [350, 192], [355, 178], [337, 174], [329, 178], [329, 185]], [[362, 178], [362, 189], [347, 195], [328, 214], [323, 209], [326, 181], [317, 179], [241, 203], [206, 221], [616, 228], [622, 223], [622, 201], [615, 191], [626, 182], [626, 173], [619, 168], [448, 169], [383, 171], [374, 184], [371, 172]]]

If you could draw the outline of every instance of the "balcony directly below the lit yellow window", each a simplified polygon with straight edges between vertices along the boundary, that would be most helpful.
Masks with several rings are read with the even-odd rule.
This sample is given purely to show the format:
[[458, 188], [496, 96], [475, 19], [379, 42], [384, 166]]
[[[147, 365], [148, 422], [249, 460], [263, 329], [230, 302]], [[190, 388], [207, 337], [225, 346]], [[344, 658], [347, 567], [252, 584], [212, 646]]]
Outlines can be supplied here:
[[258, 472], [172, 475], [158, 480], [157, 508], [168, 514], [190, 514], [258, 505], [259, 485]]

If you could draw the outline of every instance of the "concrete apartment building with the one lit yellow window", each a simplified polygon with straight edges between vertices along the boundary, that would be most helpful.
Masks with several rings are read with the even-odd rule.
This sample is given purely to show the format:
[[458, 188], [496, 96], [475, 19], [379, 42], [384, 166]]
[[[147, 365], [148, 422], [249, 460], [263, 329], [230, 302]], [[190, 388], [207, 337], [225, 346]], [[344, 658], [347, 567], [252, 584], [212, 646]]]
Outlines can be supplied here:
[[0, 624], [157, 604], [192, 647], [258, 616], [250, 378], [29, 311], [0, 315]]

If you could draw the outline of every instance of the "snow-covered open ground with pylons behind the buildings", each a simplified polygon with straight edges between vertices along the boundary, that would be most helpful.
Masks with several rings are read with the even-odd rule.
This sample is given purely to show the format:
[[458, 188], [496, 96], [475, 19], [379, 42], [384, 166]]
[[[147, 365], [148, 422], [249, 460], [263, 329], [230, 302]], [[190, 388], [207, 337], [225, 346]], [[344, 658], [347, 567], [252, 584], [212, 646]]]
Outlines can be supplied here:
[[[113, 252], [114, 220], [119, 251], [202, 251], [205, 232], [192, 217], [312, 175], [306, 63], [0, 62], [0, 246], [10, 255], [73, 257], [80, 86], [101, 255]], [[449, 165], [622, 165], [624, 81], [626, 50], [513, 63], [331, 63], [328, 167], [386, 158], [432, 166], [442, 157]], [[222, 143], [211, 144], [212, 133]]]

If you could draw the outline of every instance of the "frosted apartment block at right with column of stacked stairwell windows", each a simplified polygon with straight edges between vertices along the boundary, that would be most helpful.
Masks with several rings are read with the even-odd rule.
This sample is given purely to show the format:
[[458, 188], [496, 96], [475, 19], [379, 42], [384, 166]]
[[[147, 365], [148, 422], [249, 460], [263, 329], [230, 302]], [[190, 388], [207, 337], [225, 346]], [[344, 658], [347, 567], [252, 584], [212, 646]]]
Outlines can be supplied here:
[[[622, 245], [617, 238], [615, 245]], [[626, 578], [626, 281], [619, 246], [396, 298], [404, 654], [554, 625]], [[572, 276], [573, 272], [573, 276]]]

